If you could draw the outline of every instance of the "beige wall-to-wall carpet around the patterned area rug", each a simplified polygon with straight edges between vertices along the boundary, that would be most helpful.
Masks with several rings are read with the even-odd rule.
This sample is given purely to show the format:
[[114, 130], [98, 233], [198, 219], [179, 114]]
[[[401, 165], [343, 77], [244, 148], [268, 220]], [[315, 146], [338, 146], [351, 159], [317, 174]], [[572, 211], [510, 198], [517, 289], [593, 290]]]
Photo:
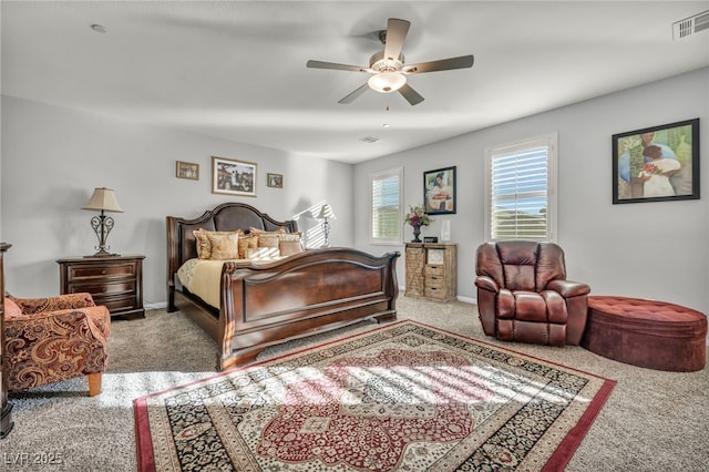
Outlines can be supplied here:
[[[677, 373], [627, 366], [583, 348], [503, 343], [482, 334], [475, 307], [400, 297], [400, 319], [460, 332], [618, 381], [572, 458], [568, 471], [703, 471], [709, 463], [709, 370]], [[271, 348], [265, 359], [338, 336], [359, 324]], [[0, 442], [7, 471], [135, 471], [133, 400], [214, 374], [216, 348], [181, 314], [154, 310], [115, 321], [103, 393], [86, 397], [74, 379], [10, 397], [16, 427]], [[47, 464], [49, 458], [61, 458]], [[39, 462], [39, 463], [33, 463]]]

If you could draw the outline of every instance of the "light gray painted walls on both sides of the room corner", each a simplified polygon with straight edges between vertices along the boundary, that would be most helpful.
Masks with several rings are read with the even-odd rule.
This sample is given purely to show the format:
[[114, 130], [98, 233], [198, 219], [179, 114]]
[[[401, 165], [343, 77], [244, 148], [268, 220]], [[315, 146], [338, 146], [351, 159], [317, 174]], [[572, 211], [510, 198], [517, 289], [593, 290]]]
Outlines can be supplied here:
[[[698, 201], [612, 204], [610, 136], [692, 117], [701, 119], [709, 153], [709, 69], [589, 100], [356, 166], [304, 161], [276, 151], [55, 106], [2, 98], [1, 239], [8, 290], [53, 295], [55, 259], [93, 253], [91, 212], [80, 207], [93, 187], [115, 189], [125, 213], [114, 214], [113, 250], [145, 254], [145, 299], [165, 301], [165, 216], [194, 217], [234, 199], [284, 219], [328, 201], [338, 219], [331, 240], [372, 254], [403, 246], [368, 240], [369, 174], [404, 167], [404, 205], [422, 202], [424, 171], [458, 166], [458, 213], [436, 217], [423, 235], [451, 220], [459, 245], [459, 297], [474, 300], [474, 253], [483, 242], [484, 147], [558, 133], [558, 242], [569, 278], [594, 294], [648, 297], [709, 312], [709, 204]], [[258, 196], [210, 193], [210, 156], [258, 164]], [[201, 165], [198, 182], [175, 178], [175, 161]], [[285, 188], [266, 187], [267, 172], [284, 174]], [[702, 160], [701, 181], [709, 182]], [[353, 198], [353, 195], [357, 198]], [[304, 218], [301, 228], [315, 227]], [[404, 229], [405, 240], [411, 228]], [[398, 264], [403, 285], [403, 259]]]

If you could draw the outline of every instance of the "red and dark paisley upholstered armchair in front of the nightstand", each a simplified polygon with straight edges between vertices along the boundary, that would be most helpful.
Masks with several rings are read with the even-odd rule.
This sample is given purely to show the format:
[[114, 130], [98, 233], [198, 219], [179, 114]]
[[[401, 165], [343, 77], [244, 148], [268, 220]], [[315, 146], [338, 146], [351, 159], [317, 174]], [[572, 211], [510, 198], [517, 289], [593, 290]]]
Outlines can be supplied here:
[[89, 377], [89, 396], [101, 393], [109, 359], [109, 309], [90, 294], [4, 299], [8, 391]]

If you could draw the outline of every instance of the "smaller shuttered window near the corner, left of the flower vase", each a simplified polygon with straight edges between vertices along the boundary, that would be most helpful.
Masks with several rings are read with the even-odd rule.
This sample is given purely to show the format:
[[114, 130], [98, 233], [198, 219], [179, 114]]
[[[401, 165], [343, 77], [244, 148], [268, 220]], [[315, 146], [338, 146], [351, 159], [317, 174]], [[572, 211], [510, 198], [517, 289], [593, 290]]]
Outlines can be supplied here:
[[401, 167], [370, 175], [372, 244], [401, 244]]

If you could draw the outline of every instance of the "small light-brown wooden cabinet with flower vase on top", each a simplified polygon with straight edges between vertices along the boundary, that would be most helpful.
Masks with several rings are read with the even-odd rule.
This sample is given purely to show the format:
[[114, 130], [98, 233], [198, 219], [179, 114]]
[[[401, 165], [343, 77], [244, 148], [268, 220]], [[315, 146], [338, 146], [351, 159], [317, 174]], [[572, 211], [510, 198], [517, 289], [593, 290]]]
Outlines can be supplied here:
[[458, 291], [456, 245], [407, 244], [407, 297], [451, 301]]

